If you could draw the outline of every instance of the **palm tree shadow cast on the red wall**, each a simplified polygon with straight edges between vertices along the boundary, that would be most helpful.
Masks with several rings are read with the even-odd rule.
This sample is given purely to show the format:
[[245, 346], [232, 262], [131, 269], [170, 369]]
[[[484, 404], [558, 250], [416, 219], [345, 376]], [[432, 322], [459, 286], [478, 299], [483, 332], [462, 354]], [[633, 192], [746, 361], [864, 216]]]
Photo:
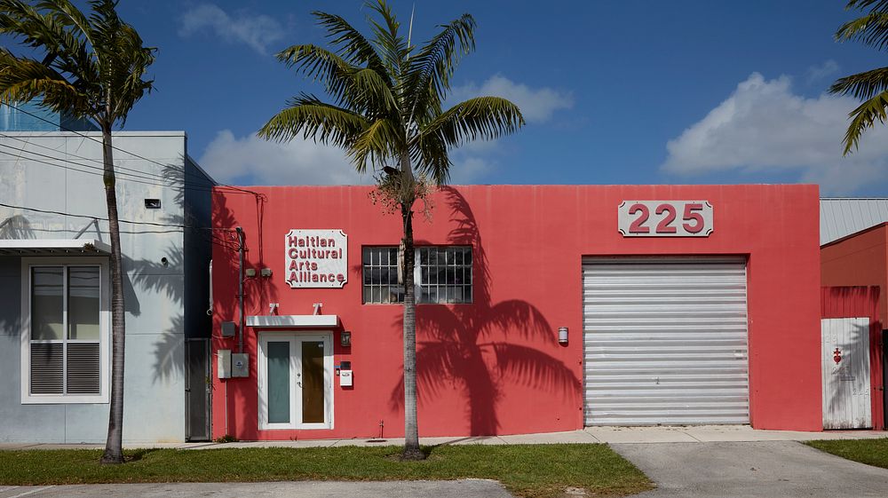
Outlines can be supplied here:
[[[574, 371], [538, 349], [558, 347], [548, 320], [533, 304], [519, 299], [492, 303], [488, 257], [472, 208], [456, 189], [441, 189], [456, 223], [448, 244], [472, 247], [472, 304], [422, 304], [416, 307], [416, 382], [419, 402], [458, 389], [466, 394], [465, 419], [472, 436], [500, 429], [497, 405], [503, 385], [517, 383], [573, 398], [580, 391]], [[417, 246], [424, 245], [417, 241]], [[417, 293], [418, 294], [418, 293]], [[403, 317], [396, 320], [403, 327]], [[390, 404], [404, 403], [403, 379]], [[528, 400], [528, 402], [532, 402]]]

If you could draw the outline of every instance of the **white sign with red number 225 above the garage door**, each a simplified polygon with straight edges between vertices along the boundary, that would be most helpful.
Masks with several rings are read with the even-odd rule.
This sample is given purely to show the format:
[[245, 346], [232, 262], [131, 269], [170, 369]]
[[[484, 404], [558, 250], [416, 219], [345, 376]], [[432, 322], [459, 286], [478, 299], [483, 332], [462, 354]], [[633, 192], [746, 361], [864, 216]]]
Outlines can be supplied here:
[[709, 237], [708, 201], [623, 201], [617, 208], [623, 237]]

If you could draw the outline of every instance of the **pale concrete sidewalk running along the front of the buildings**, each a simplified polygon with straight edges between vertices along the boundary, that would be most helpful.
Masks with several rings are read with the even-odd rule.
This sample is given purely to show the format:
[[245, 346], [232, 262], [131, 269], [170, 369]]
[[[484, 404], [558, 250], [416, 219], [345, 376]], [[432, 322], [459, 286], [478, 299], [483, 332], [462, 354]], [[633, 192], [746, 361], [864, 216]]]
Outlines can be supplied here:
[[[888, 431], [759, 431], [749, 425], [686, 427], [587, 427], [582, 431], [483, 436], [473, 438], [422, 438], [423, 445], [531, 445], [553, 443], [711, 443], [755, 441], [809, 441], [813, 439], [888, 438]], [[305, 439], [300, 441], [243, 441], [236, 443], [132, 443], [128, 448], [218, 449], [232, 447], [370, 447], [401, 446], [404, 439]], [[95, 449], [104, 444], [0, 443], [0, 450]]]

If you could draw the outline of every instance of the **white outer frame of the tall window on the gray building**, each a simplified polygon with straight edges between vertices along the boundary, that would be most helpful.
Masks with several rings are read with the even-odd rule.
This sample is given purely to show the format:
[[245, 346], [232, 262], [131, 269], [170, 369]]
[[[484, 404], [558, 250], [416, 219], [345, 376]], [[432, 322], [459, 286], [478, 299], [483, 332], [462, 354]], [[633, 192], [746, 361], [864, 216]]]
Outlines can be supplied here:
[[[99, 267], [99, 394], [32, 394], [31, 384], [31, 291], [33, 274], [31, 268], [38, 266], [98, 266]], [[65, 271], [64, 303], [67, 303], [67, 269]], [[21, 404], [107, 404], [110, 402], [111, 380], [111, 299], [108, 282], [107, 257], [22, 257], [21, 258]], [[67, 304], [63, 307], [67, 316]], [[65, 330], [67, 339], [67, 329]], [[62, 375], [67, 376], [63, 370]]]

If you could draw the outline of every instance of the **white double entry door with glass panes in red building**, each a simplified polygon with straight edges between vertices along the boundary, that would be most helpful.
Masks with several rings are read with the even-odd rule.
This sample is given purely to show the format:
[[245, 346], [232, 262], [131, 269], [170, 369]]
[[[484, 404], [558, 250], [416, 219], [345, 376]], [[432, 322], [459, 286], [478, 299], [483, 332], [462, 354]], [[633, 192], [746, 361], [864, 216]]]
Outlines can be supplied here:
[[259, 429], [333, 428], [329, 334], [259, 336]]

